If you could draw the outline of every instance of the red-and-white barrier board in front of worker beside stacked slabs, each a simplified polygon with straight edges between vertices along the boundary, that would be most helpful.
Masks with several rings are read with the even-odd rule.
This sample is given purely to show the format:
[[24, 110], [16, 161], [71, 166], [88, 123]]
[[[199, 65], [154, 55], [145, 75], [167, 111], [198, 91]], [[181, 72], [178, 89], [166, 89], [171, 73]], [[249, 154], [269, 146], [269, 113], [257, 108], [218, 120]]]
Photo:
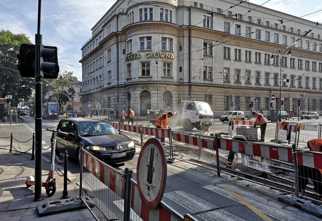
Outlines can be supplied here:
[[293, 162], [292, 148], [277, 147], [257, 143], [244, 143], [236, 140], [220, 138], [220, 149], [244, 153], [248, 155]]

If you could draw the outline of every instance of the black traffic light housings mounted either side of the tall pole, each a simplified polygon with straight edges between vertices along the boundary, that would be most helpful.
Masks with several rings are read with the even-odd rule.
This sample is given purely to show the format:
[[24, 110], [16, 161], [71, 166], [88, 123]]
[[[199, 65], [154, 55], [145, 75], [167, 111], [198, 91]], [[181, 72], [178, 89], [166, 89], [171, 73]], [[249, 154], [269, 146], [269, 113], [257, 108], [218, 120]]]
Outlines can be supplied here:
[[[18, 70], [21, 77], [35, 77], [35, 45], [22, 44], [19, 49]], [[40, 45], [40, 76], [56, 79], [59, 73], [57, 48]]]

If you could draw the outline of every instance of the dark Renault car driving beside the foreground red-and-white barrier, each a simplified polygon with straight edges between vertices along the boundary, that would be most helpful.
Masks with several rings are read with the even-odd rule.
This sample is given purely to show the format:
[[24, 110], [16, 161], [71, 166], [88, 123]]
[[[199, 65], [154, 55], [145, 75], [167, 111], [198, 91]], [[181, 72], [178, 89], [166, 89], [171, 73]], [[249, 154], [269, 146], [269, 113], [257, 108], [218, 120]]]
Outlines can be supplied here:
[[[133, 159], [134, 142], [110, 123], [90, 118], [67, 118], [59, 121], [56, 137], [56, 155], [68, 151], [79, 159], [81, 143], [98, 159], [118, 163]], [[53, 136], [51, 138], [53, 140]]]

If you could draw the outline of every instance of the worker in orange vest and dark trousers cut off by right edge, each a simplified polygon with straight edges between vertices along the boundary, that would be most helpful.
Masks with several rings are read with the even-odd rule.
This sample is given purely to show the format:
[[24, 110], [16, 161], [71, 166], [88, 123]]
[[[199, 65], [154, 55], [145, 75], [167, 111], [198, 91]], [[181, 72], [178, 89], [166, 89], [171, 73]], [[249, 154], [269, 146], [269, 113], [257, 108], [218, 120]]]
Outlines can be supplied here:
[[[321, 153], [322, 139], [318, 138], [307, 141], [307, 147], [310, 151]], [[315, 192], [319, 194], [322, 201], [322, 169], [298, 165], [298, 190], [302, 195], [304, 195], [305, 186], [308, 184], [309, 178], [313, 182]]]

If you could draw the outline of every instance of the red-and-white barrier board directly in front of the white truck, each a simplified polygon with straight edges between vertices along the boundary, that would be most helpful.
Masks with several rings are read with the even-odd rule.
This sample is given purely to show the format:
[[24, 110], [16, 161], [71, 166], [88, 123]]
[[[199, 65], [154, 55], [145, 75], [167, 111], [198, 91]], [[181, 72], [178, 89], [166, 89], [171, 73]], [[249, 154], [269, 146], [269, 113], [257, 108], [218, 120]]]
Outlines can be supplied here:
[[179, 142], [207, 148], [210, 150], [216, 150], [216, 141], [213, 139], [204, 139], [199, 137], [193, 137], [189, 134], [172, 132], [172, 139]]

